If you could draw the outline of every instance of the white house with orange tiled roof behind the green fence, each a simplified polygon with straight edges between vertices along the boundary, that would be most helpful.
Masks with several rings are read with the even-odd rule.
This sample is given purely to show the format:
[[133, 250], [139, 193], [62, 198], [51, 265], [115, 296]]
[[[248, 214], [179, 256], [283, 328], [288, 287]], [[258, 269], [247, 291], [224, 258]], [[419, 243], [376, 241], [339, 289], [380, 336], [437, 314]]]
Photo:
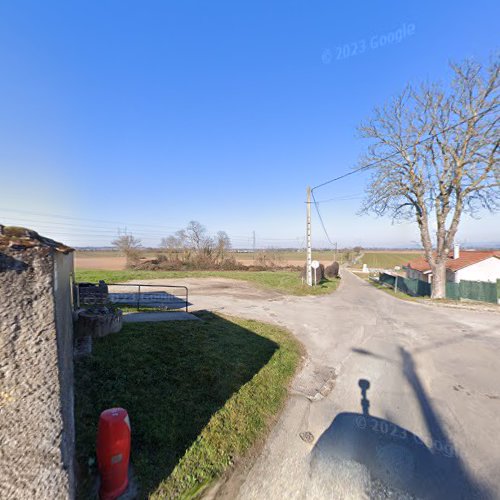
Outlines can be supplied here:
[[[415, 259], [405, 266], [406, 277], [432, 283], [432, 270], [425, 258]], [[497, 250], [460, 250], [455, 245], [446, 261], [446, 281], [490, 281], [500, 279], [500, 252]]]

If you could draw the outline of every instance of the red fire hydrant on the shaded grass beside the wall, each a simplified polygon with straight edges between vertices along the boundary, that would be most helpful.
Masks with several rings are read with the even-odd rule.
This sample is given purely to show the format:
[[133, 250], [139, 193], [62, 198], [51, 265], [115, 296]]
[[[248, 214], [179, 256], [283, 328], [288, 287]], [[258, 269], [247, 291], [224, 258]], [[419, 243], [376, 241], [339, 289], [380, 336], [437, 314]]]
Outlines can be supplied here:
[[123, 408], [101, 413], [97, 429], [97, 463], [101, 475], [101, 500], [118, 498], [128, 486], [130, 420]]

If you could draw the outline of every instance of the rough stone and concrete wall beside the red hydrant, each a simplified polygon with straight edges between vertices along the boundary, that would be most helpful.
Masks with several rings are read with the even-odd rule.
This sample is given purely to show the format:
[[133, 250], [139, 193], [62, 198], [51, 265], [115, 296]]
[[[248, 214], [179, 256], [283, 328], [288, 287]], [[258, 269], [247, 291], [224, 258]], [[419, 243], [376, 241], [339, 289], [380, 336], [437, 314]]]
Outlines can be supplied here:
[[73, 254], [0, 250], [0, 498], [74, 498]]

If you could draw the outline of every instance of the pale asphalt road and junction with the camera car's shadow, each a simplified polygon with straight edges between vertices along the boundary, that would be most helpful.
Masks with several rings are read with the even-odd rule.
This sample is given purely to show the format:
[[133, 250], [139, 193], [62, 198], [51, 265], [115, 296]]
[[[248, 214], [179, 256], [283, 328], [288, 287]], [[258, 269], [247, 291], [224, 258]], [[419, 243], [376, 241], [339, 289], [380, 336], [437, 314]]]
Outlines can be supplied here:
[[279, 323], [308, 353], [262, 452], [218, 497], [500, 498], [499, 313], [402, 301], [349, 272], [322, 297], [205, 283], [194, 309]]

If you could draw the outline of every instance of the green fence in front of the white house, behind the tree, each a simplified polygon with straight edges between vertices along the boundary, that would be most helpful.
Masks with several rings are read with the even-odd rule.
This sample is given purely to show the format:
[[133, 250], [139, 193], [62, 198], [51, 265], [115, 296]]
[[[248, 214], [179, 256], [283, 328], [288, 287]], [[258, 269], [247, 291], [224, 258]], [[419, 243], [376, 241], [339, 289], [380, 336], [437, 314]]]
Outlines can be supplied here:
[[[430, 296], [432, 292], [432, 285], [430, 283], [418, 279], [403, 278], [402, 276], [380, 273], [379, 281], [414, 297]], [[500, 298], [500, 280], [496, 283], [487, 281], [447, 282], [446, 298], [452, 300], [479, 300], [481, 302], [497, 304]]]

